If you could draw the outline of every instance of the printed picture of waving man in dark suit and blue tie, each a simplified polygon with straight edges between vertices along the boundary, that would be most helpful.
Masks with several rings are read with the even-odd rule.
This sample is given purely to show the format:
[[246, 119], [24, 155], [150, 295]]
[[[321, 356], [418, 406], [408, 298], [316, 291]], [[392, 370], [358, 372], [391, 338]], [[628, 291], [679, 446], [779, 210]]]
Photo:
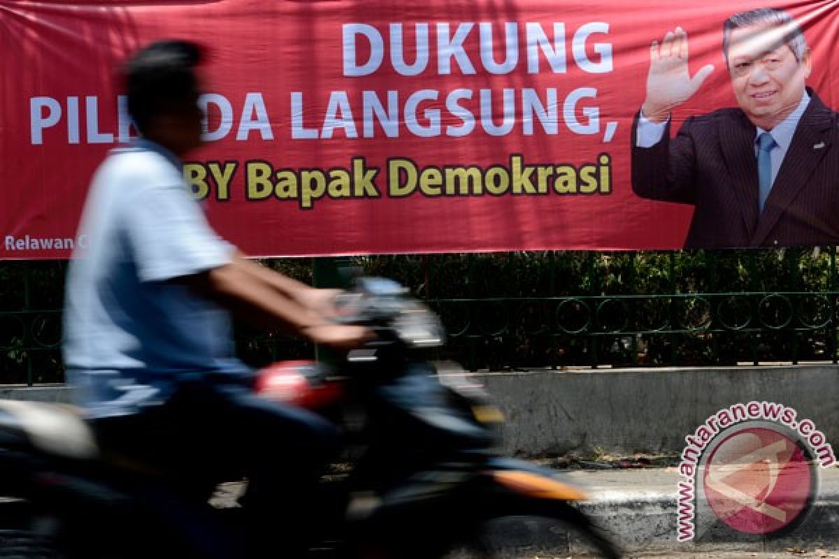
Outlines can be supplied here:
[[722, 51], [738, 107], [690, 116], [670, 138], [670, 112], [714, 67], [690, 76], [682, 28], [651, 45], [633, 191], [694, 206], [687, 248], [839, 245], [836, 112], [805, 85], [812, 60], [799, 24], [773, 8], [737, 13]]

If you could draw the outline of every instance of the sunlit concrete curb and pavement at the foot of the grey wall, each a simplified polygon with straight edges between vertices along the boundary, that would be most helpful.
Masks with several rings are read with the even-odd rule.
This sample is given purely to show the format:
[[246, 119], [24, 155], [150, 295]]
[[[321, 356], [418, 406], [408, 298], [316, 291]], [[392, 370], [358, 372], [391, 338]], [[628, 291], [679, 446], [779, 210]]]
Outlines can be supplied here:
[[[789, 548], [813, 550], [839, 548], [839, 468], [823, 471], [821, 491], [805, 521], [794, 531], [780, 537], [749, 536], [717, 522], [696, 541], [676, 540], [676, 483], [678, 474], [670, 469], [565, 471], [560, 476], [586, 489], [591, 499], [580, 505], [586, 515], [629, 558], [656, 556], [659, 553], [685, 553], [711, 556], [712, 552], [784, 551]], [[670, 483], [672, 482], [672, 486]], [[225, 484], [216, 496], [215, 506], [226, 507], [241, 491], [239, 483]], [[623, 489], [618, 489], [622, 487]], [[0, 556], [8, 545], [33, 546], [37, 543], [20, 525], [26, 503], [18, 499], [0, 499]], [[9, 530], [11, 529], [11, 531]], [[7, 537], [13, 543], [9, 544]], [[578, 534], [547, 531], [545, 526], [500, 524], [493, 527], [492, 539], [526, 542], [527, 549], [503, 559], [518, 559], [521, 551], [534, 556], [567, 557], [586, 554], [591, 547]], [[18, 541], [19, 540], [19, 541]], [[23, 542], [21, 544], [20, 542]], [[29, 543], [27, 543], [29, 542]]]

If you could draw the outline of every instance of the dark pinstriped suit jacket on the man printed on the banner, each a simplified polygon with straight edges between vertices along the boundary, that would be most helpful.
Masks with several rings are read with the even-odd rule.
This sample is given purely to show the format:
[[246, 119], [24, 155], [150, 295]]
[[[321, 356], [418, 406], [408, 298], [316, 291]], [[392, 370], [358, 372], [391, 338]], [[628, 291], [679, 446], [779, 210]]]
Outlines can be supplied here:
[[635, 146], [636, 115], [633, 191], [695, 206], [688, 248], [839, 245], [836, 112], [808, 92], [810, 104], [760, 215], [756, 129], [740, 109], [691, 116], [672, 139], [668, 126], [653, 148]]

